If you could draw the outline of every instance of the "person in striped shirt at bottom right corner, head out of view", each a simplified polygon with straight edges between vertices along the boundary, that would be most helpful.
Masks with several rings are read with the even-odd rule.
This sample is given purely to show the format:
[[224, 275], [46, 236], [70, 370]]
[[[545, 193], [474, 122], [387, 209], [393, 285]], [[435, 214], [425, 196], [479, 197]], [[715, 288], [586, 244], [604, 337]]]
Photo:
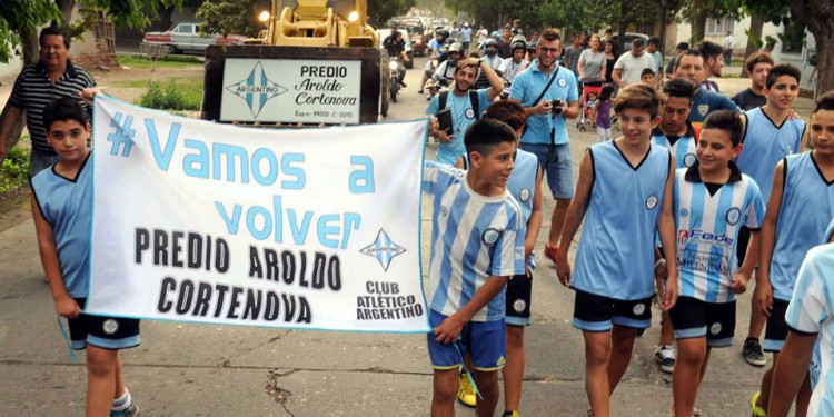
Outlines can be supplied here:
[[[834, 129], [834, 125], [831, 126]], [[834, 133], [834, 130], [832, 132]], [[823, 361], [822, 355], [823, 349], [826, 353], [832, 351], [833, 329], [830, 318], [834, 314], [831, 310], [834, 294], [830, 285], [834, 279], [834, 245], [825, 244], [834, 244], [834, 219], [825, 230], [824, 246], [808, 251], [805, 262], [800, 268], [796, 291], [787, 306], [785, 320], [791, 327], [791, 332], [774, 373], [773, 395], [767, 406], [771, 416], [787, 416], [805, 378], [811, 379], [811, 389], [814, 391], [811, 404], [805, 407], [805, 415], [816, 417], [834, 414], [834, 397], [828, 388], [831, 381], [827, 377], [820, 380], [820, 377], [827, 376], [831, 369], [831, 357]], [[824, 257], [827, 261], [817, 262], [816, 260], [824, 259], [823, 252], [826, 254]], [[824, 276], [825, 272], [828, 275]], [[820, 331], [823, 331], [822, 337]]]

